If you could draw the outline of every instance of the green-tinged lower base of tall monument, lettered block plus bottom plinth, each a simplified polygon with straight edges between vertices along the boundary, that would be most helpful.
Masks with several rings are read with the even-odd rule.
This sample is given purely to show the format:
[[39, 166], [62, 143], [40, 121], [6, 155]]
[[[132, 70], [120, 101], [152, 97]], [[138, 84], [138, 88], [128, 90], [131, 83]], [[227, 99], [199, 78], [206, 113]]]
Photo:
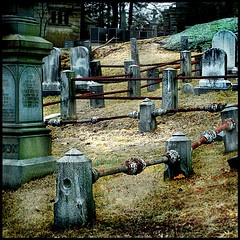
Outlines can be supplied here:
[[55, 171], [50, 130], [45, 123], [4, 123], [2, 130], [3, 187], [17, 189]]

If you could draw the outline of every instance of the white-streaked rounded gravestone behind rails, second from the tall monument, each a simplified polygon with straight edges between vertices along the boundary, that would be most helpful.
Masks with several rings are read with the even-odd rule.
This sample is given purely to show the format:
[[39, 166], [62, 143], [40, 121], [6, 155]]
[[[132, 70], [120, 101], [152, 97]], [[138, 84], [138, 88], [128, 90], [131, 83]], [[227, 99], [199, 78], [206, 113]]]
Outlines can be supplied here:
[[[76, 78], [89, 77], [90, 58], [89, 50], [79, 46], [70, 49], [70, 69], [75, 73]], [[75, 81], [76, 92], [85, 92], [90, 81]]]

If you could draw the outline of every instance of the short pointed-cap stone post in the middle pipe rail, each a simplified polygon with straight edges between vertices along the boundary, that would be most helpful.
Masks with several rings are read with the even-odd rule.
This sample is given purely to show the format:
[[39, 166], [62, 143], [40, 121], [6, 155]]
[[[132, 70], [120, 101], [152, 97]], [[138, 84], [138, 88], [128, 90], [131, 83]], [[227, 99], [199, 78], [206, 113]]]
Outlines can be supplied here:
[[148, 98], [145, 98], [140, 104], [139, 132], [152, 132], [157, 128], [156, 118], [152, 115], [154, 109], [155, 104]]

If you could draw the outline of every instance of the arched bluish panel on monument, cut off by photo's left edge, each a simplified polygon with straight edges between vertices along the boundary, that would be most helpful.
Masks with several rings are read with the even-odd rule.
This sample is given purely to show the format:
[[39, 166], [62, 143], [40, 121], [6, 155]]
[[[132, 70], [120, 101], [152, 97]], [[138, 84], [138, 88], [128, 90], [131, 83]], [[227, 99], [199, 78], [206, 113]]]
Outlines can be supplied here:
[[15, 122], [15, 80], [11, 71], [3, 67], [2, 73], [2, 120]]

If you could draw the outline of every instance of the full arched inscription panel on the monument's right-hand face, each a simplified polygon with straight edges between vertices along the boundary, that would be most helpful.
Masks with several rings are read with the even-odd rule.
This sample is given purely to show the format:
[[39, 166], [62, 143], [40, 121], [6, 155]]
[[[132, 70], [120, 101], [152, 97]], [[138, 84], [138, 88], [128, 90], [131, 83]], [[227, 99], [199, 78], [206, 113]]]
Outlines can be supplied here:
[[25, 122], [42, 120], [41, 77], [37, 68], [24, 68], [19, 85], [19, 120]]

